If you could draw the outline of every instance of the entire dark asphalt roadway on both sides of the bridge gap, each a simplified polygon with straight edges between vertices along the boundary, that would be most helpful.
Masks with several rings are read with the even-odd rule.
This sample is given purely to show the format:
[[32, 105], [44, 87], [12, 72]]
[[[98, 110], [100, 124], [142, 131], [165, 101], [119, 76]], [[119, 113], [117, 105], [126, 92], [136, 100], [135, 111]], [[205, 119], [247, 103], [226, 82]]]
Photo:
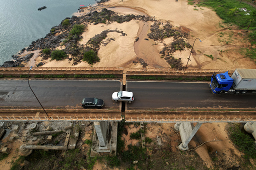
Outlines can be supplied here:
[[[43, 107], [82, 109], [84, 97], [104, 100], [105, 107], [119, 107], [111, 95], [120, 90], [117, 80], [29, 80]], [[0, 80], [0, 106], [40, 107], [27, 80]], [[207, 83], [127, 81], [134, 102], [127, 108], [255, 108], [256, 94], [212, 94]]]

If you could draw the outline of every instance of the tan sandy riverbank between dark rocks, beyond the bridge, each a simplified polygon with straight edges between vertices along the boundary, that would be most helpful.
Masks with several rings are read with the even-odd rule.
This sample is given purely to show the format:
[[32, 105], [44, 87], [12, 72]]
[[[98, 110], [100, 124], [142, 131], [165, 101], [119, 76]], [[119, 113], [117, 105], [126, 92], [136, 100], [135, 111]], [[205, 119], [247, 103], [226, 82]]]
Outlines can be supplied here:
[[[116, 7], [118, 6], [118, 7]], [[186, 0], [161, 0], [148, 1], [148, 0], [109, 0], [108, 2], [94, 6], [93, 8], [87, 8], [84, 10], [84, 14], [92, 10], [100, 11], [102, 7], [116, 7], [111, 10], [118, 12], [119, 14], [141, 14], [144, 12], [149, 16], [154, 16], [156, 19], [165, 23], [169, 21], [173, 28], [181, 29], [184, 32], [189, 32], [189, 42], [191, 45], [194, 43], [193, 52], [188, 62], [189, 69], [235, 69], [235, 68], [256, 68], [254, 62], [251, 62], [248, 58], [238, 53], [240, 47], [249, 45], [246, 41], [241, 41], [238, 34], [242, 34], [241, 30], [230, 30], [226, 28], [221, 19], [216, 13], [206, 7], [194, 7], [194, 5], [188, 5]], [[131, 9], [129, 9], [131, 8]], [[195, 10], [196, 9], [196, 10]], [[81, 15], [81, 13], [79, 14]], [[126, 36], [120, 36], [120, 33], [109, 32], [107, 38], [114, 38], [113, 41], [107, 45], [101, 45], [98, 50], [98, 57], [100, 62], [93, 65], [93, 67], [139, 67], [139, 64], [133, 64], [132, 62], [137, 58], [142, 58], [147, 67], [150, 68], [170, 68], [170, 65], [160, 56], [163, 44], [170, 44], [172, 39], [166, 38], [161, 41], [149, 41], [140, 39], [140, 54], [135, 52], [135, 38], [139, 36], [143, 24], [142, 21], [131, 20], [129, 22], [111, 24], [96, 24], [90, 23], [87, 25], [83, 38], [80, 44], [86, 44], [86, 42], [96, 34], [106, 29], [116, 29], [123, 31]], [[153, 22], [147, 22], [148, 29], [146, 33], [149, 33], [150, 24]], [[230, 28], [230, 26], [229, 26]], [[143, 39], [147, 38], [147, 35]], [[222, 33], [223, 36], [219, 36]], [[230, 38], [230, 34], [232, 37]], [[198, 40], [199, 38], [202, 42]], [[106, 41], [106, 40], [103, 40]], [[62, 46], [61, 48], [64, 48]], [[60, 49], [61, 49], [60, 48]], [[183, 51], [175, 51], [173, 57], [181, 58], [183, 66], [186, 65], [187, 58], [190, 54], [191, 48], [185, 48]], [[138, 56], [139, 55], [139, 56]], [[212, 57], [209, 57], [212, 56]], [[35, 64], [44, 62], [45, 67], [90, 67], [91, 65], [82, 61], [77, 65], [72, 65], [72, 62], [68, 62], [68, 59], [63, 61], [50, 61], [43, 60], [41, 57], [35, 59]], [[28, 65], [26, 65], [28, 66]], [[31, 66], [31, 65], [29, 65]]]

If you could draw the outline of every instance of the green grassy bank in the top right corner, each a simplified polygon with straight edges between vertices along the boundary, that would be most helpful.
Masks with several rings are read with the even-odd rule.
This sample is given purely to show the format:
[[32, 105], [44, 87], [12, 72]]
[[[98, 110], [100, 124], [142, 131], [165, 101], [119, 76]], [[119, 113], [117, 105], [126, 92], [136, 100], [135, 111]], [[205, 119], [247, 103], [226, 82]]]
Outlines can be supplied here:
[[251, 22], [251, 19], [256, 16], [256, 9], [247, 3], [239, 2], [239, 0], [204, 0], [199, 5], [212, 7], [224, 23], [234, 23], [243, 29], [250, 24], [250, 29], [255, 29], [256, 22]]

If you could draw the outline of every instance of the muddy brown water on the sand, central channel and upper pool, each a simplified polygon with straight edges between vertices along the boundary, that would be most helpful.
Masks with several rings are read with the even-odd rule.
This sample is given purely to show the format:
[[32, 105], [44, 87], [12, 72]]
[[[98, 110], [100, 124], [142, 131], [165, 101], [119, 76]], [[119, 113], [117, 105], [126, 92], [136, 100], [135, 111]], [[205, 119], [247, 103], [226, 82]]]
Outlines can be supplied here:
[[[128, 7], [114, 7], [108, 8], [120, 14], [139, 14], [145, 15], [143, 11], [132, 9]], [[137, 32], [138, 41], [134, 41], [134, 52], [138, 58], [142, 58], [149, 67], [155, 68], [169, 68], [169, 65], [164, 59], [160, 58], [159, 52], [154, 45], [154, 41], [149, 39], [147, 33], [150, 32], [150, 22], [139, 22], [139, 29]]]

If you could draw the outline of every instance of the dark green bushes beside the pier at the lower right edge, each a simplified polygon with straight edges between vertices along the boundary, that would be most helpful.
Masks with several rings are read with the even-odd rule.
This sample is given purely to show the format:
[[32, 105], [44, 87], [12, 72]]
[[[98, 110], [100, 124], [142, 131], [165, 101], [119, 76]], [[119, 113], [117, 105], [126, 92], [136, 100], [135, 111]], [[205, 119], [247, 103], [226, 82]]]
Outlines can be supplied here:
[[231, 140], [238, 147], [239, 151], [242, 151], [245, 155], [244, 158], [249, 160], [250, 158], [256, 159], [256, 144], [254, 141], [246, 134], [243, 134], [239, 130], [239, 125], [230, 128], [231, 131]]

